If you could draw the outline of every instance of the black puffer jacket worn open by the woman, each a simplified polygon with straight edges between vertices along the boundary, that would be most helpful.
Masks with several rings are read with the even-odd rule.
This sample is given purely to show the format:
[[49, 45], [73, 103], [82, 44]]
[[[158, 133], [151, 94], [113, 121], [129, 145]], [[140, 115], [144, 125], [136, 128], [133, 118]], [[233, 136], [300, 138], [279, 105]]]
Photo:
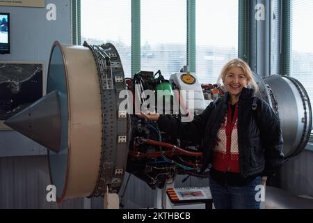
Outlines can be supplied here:
[[[243, 178], [256, 174], [273, 176], [284, 162], [280, 120], [271, 107], [259, 98], [256, 111], [252, 111], [253, 96], [252, 89], [244, 88], [238, 104], [239, 167]], [[229, 97], [226, 93], [225, 97], [211, 102], [202, 114], [189, 123], [163, 115], [158, 120], [160, 130], [201, 145], [204, 153], [202, 171], [211, 162], [212, 148], [227, 113]]]

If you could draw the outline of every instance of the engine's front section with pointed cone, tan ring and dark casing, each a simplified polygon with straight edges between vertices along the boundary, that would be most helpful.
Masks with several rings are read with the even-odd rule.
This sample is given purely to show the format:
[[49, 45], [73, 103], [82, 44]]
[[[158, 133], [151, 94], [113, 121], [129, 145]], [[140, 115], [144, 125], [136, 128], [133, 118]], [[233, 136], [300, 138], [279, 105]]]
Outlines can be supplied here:
[[[120, 190], [127, 164], [129, 118], [118, 111], [118, 93], [125, 86], [120, 56], [110, 43], [73, 46], [55, 42], [47, 96], [28, 108], [32, 112], [26, 109], [6, 121], [49, 148], [57, 201], [97, 197], [107, 188]], [[58, 100], [53, 104], [51, 98]], [[35, 128], [28, 128], [28, 123], [35, 123]]]

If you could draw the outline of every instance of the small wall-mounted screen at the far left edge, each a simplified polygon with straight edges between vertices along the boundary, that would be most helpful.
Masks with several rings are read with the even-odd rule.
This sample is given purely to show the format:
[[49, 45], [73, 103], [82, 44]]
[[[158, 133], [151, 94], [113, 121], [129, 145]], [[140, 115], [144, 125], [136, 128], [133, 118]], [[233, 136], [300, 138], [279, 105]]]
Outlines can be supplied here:
[[0, 13], [0, 54], [10, 54], [9, 13]]

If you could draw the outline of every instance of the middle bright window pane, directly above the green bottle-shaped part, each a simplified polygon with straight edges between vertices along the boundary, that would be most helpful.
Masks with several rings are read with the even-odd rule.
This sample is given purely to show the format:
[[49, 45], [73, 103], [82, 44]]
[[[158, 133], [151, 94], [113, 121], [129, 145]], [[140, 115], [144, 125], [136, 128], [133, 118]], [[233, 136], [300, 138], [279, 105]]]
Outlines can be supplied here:
[[169, 78], [186, 65], [186, 1], [141, 0], [141, 70]]

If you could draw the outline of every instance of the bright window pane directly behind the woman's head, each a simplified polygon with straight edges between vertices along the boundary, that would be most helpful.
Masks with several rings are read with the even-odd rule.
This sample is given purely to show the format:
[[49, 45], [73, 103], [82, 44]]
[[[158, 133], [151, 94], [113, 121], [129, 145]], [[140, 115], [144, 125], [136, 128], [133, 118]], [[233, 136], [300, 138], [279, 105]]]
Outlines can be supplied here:
[[227, 61], [238, 57], [238, 0], [196, 1], [196, 74], [215, 84]]

